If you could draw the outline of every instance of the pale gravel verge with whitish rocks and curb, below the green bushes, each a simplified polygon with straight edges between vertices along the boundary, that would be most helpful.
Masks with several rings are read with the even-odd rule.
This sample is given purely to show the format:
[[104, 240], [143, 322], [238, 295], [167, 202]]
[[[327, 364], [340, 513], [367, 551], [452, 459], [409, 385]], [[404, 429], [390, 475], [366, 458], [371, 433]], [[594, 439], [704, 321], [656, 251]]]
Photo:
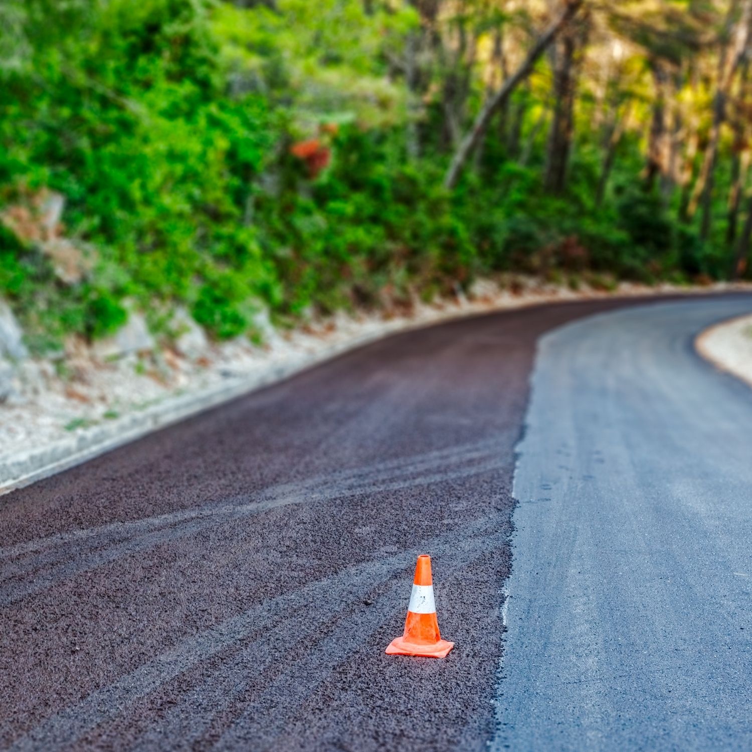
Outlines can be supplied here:
[[271, 330], [263, 346], [238, 339], [207, 342], [190, 357], [166, 347], [112, 360], [82, 345], [57, 365], [29, 359], [18, 370], [17, 399], [0, 405], [0, 493], [393, 332], [544, 302], [735, 289], [750, 286], [620, 284], [605, 292], [526, 278], [515, 278], [511, 289], [481, 280], [468, 298], [414, 305], [406, 315], [341, 314], [293, 332]]

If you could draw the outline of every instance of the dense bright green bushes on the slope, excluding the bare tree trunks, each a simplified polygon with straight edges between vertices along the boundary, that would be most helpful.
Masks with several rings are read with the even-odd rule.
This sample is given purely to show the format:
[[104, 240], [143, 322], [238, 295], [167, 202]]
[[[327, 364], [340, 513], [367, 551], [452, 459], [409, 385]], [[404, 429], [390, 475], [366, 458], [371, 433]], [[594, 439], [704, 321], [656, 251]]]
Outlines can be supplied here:
[[[9, 2], [28, 44], [0, 65], [0, 211], [57, 191], [65, 235], [96, 249], [83, 279], [64, 283], [0, 223], [0, 293], [40, 346], [109, 335], [131, 305], [162, 326], [179, 303], [232, 338], [253, 334], [262, 308], [294, 320], [407, 303], [477, 274], [724, 274], [723, 245], [675, 226], [663, 199], [636, 185], [636, 138], [625, 138], [602, 205], [591, 134], [575, 144], [568, 193], [547, 196], [534, 87], [510, 111], [530, 112], [516, 152], [508, 123], [495, 122], [447, 193], [443, 110], [438, 99], [426, 106], [420, 156], [408, 156], [407, 90], [384, 47], [417, 27], [414, 8]], [[472, 106], [483, 96], [473, 89]], [[296, 156], [314, 139], [326, 167]]]

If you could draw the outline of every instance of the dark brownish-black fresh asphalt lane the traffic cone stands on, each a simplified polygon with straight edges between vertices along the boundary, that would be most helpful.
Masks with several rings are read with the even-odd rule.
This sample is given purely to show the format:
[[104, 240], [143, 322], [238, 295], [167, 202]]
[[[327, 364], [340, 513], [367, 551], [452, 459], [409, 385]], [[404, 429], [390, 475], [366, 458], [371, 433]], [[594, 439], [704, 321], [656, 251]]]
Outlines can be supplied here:
[[[3, 497], [0, 747], [484, 749], [535, 344], [620, 305], [398, 335]], [[419, 553], [445, 660], [384, 655]]]

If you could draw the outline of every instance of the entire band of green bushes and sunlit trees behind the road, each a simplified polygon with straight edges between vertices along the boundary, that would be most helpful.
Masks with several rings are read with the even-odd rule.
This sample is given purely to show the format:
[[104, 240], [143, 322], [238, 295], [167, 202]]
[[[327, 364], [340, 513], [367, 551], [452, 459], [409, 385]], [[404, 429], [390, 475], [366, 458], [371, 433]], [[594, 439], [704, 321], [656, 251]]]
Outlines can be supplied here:
[[39, 350], [478, 276], [743, 277], [752, 0], [5, 0], [0, 296]]

